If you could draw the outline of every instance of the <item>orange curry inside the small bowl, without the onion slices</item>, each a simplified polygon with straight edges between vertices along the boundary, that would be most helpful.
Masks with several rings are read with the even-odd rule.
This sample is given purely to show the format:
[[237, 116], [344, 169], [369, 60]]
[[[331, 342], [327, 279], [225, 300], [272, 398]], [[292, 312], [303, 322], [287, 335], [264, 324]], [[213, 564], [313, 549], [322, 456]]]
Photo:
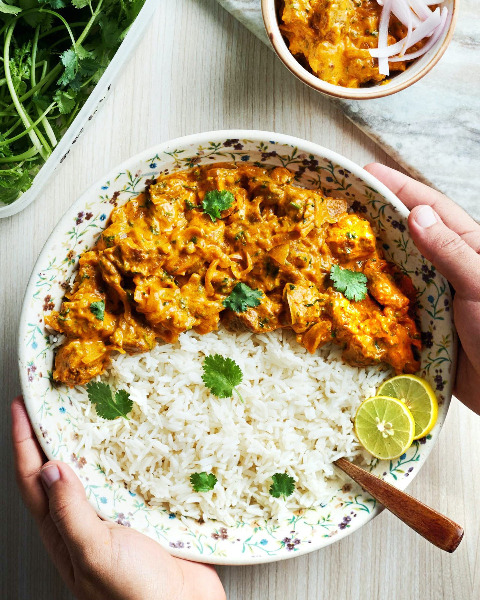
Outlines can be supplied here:
[[[281, 4], [280, 29], [289, 40], [290, 52], [304, 58], [317, 77], [345, 88], [385, 79], [377, 59], [368, 52], [378, 47], [382, 7], [376, 0], [284, 0]], [[406, 34], [407, 28], [392, 14], [388, 44]], [[419, 41], [409, 53], [424, 44]], [[404, 71], [407, 62], [389, 66], [392, 71]]]

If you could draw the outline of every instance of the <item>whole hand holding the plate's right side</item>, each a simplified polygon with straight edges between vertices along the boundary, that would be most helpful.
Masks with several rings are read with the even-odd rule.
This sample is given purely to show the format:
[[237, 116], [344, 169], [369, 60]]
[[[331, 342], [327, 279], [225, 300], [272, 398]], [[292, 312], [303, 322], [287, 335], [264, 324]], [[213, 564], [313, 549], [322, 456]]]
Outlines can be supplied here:
[[383, 164], [365, 167], [410, 209], [416, 247], [452, 284], [459, 346], [454, 394], [480, 414], [480, 225], [452, 200]]

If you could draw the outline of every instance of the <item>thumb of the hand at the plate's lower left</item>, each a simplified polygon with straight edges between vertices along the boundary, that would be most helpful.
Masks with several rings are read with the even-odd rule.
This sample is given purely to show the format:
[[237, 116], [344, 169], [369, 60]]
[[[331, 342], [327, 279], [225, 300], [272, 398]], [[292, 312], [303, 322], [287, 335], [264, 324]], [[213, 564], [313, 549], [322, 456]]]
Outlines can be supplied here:
[[106, 537], [107, 530], [86, 499], [80, 479], [61, 461], [45, 463], [40, 478], [49, 498], [50, 517], [70, 556], [91, 553]]

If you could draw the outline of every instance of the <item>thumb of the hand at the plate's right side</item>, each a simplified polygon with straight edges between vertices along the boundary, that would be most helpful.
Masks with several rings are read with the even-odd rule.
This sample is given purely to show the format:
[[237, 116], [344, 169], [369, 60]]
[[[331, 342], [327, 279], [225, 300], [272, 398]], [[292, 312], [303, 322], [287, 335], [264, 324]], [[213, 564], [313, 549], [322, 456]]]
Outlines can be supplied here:
[[409, 215], [409, 229], [416, 247], [455, 291], [467, 299], [480, 299], [480, 256], [431, 206], [415, 206]]

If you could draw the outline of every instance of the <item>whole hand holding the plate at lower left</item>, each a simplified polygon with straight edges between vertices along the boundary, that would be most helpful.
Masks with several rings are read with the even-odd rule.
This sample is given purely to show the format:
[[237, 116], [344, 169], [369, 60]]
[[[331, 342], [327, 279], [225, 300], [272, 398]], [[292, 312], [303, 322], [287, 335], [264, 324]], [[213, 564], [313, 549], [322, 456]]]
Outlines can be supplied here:
[[63, 580], [79, 600], [224, 600], [215, 569], [170, 556], [142, 533], [102, 521], [73, 470], [46, 462], [22, 396], [11, 404], [17, 484]]

